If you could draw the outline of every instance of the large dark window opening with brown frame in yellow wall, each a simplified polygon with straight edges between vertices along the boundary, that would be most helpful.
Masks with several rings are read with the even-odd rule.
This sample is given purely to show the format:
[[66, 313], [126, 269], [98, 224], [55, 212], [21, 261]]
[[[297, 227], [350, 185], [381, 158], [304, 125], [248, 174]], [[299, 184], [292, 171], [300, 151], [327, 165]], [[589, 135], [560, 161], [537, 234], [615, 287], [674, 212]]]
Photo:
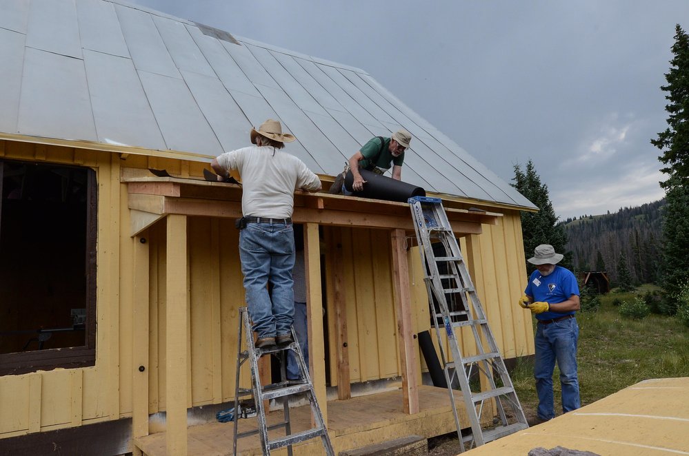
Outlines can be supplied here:
[[0, 160], [0, 375], [92, 366], [95, 172]]

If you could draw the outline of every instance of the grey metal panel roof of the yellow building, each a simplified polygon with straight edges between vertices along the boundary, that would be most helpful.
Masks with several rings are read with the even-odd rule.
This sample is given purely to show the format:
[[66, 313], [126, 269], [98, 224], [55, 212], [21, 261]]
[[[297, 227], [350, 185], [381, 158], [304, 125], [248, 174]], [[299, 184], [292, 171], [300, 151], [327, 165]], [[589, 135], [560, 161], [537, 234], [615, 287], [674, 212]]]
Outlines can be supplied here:
[[[218, 38], [220, 37], [220, 39]], [[277, 118], [334, 176], [372, 136], [414, 139], [404, 180], [534, 207], [369, 74], [115, 0], [0, 2], [0, 132], [208, 161]], [[191, 155], [190, 155], [191, 154]]]

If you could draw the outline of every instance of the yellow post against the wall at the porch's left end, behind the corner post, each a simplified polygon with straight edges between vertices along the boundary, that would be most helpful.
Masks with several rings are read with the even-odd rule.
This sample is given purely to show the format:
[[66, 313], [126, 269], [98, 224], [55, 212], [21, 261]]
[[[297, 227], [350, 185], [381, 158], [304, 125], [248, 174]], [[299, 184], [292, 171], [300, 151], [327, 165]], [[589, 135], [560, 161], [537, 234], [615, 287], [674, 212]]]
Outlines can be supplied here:
[[[136, 439], [148, 435], [148, 231], [144, 231], [140, 236], [134, 236], [132, 242], [134, 242], [132, 437]], [[136, 446], [134, 446], [134, 454], [141, 455], [141, 450]]]

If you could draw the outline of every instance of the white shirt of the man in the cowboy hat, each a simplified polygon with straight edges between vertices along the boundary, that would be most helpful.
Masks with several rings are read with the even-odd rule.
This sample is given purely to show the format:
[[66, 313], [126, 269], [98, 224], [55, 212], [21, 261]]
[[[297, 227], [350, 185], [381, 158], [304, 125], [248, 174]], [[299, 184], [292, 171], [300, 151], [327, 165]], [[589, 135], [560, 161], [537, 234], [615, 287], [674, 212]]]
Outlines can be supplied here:
[[241, 176], [243, 216], [288, 218], [294, 210], [294, 189], [317, 190], [318, 176], [299, 158], [270, 146], [251, 146], [217, 158], [225, 169]]

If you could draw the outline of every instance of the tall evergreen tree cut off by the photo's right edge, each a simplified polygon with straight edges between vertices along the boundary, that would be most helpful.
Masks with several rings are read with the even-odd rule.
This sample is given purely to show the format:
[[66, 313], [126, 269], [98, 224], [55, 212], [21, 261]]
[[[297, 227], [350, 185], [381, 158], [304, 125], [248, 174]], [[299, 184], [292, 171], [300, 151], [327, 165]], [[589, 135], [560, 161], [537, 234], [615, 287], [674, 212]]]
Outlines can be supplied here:
[[667, 203], [663, 210], [663, 242], [661, 243], [662, 284], [671, 302], [689, 278], [689, 35], [679, 24], [675, 28], [674, 57], [665, 74], [668, 104], [668, 128], [651, 143], [661, 149], [659, 160], [666, 165], [661, 171], [668, 180]]

